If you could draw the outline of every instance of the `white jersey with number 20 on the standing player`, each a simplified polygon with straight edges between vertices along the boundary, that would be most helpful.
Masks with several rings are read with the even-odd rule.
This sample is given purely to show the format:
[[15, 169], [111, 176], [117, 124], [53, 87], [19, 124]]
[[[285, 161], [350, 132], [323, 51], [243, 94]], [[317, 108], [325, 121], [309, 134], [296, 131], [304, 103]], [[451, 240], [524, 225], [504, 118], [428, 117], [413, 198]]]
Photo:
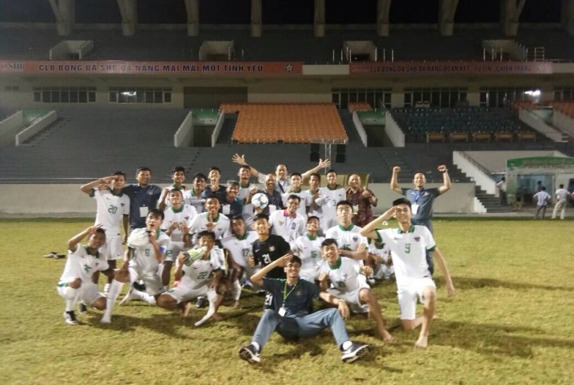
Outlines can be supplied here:
[[107, 238], [119, 237], [124, 215], [129, 215], [129, 197], [115, 195], [110, 190], [93, 189], [91, 197], [98, 205], [95, 224], [101, 224]]

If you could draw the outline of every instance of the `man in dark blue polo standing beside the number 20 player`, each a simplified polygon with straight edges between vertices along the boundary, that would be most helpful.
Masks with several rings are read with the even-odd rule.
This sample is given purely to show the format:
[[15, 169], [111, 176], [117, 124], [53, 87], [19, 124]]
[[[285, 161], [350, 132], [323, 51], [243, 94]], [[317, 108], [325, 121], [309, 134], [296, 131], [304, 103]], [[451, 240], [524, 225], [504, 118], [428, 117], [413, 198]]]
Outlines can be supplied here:
[[140, 229], [145, 227], [145, 218], [151, 208], [158, 206], [158, 199], [161, 195], [161, 188], [155, 184], [150, 184], [151, 170], [147, 167], [140, 167], [136, 170], [136, 181], [122, 188], [122, 193], [129, 197], [129, 229]]

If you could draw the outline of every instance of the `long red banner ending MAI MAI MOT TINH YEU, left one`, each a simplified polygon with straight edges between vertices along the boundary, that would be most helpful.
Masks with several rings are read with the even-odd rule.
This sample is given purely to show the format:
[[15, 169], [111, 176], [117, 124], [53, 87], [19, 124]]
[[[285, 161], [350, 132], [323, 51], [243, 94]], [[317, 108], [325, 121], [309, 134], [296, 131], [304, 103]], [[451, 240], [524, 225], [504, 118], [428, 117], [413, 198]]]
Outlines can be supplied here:
[[59, 75], [301, 75], [302, 62], [26, 62], [0, 60], [0, 73]]

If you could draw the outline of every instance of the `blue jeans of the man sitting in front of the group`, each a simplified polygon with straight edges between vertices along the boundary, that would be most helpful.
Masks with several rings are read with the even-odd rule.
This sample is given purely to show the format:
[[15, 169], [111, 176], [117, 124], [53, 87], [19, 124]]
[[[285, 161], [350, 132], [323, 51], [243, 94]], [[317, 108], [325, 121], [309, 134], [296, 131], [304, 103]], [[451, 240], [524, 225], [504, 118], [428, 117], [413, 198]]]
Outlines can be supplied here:
[[286, 339], [313, 337], [326, 328], [331, 328], [337, 346], [349, 341], [345, 322], [335, 308], [320, 310], [306, 316], [282, 317], [275, 310], [266, 309], [259, 320], [259, 325], [253, 334], [252, 342], [259, 343], [260, 350], [269, 341], [271, 333], [277, 332]]

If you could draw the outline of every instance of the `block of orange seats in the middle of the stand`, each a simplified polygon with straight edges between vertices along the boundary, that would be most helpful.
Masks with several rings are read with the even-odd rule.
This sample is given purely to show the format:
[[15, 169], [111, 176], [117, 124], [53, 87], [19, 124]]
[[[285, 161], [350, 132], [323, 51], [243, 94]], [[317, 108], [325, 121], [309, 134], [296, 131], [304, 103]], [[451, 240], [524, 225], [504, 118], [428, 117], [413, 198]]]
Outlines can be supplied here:
[[349, 137], [335, 105], [233, 104], [221, 111], [239, 111], [232, 140], [237, 143], [346, 143]]

